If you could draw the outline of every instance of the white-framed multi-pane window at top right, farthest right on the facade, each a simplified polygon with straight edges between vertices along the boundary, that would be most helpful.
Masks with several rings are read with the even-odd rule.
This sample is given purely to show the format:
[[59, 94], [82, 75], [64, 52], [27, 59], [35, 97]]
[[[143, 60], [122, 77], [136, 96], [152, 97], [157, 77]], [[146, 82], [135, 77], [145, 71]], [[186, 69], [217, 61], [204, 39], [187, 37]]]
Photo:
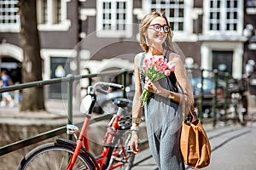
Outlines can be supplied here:
[[241, 0], [209, 0], [207, 2], [207, 32], [237, 33], [240, 31]]

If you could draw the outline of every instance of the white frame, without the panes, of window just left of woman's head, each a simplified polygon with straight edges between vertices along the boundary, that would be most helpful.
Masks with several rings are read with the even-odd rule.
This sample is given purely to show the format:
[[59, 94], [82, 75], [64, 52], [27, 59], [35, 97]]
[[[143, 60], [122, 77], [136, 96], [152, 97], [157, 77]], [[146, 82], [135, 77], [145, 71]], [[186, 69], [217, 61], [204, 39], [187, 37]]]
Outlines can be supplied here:
[[[102, 15], [104, 14], [103, 3], [118, 3], [118, 2], [125, 2], [126, 9], [125, 9], [125, 30], [103, 30], [103, 23], [104, 20]], [[97, 0], [96, 6], [96, 36], [97, 37], [131, 37], [132, 36], [132, 1], [130, 0]], [[111, 7], [111, 14], [115, 15], [118, 14], [118, 9]], [[115, 25], [117, 22], [116, 18], [109, 20], [111, 25]]]

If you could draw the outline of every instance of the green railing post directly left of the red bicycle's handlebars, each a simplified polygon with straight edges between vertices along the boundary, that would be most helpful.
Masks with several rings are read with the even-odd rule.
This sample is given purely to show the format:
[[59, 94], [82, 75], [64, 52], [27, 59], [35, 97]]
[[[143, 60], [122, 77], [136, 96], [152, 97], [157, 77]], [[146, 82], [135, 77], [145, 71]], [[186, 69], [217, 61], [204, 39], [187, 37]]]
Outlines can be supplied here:
[[[69, 81], [67, 82], [67, 124], [73, 123], [73, 81], [74, 76], [67, 75]], [[67, 139], [72, 140], [72, 135], [67, 134]]]

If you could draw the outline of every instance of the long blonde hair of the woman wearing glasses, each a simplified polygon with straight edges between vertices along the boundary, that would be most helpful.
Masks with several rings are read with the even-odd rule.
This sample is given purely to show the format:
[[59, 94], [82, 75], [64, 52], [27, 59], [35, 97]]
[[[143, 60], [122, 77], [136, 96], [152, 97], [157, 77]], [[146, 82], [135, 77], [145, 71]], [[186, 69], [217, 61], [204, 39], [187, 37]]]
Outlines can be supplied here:
[[[164, 18], [166, 20], [167, 26], [170, 27], [170, 24], [169, 24], [169, 22], [168, 22], [168, 20], [165, 16], [165, 14], [160, 14], [160, 13], [157, 13], [155, 11], [145, 15], [143, 17], [143, 20], [140, 23], [140, 29], [139, 29], [139, 31], [140, 31], [140, 45], [143, 48], [143, 51], [145, 51], [145, 52], [148, 52], [148, 45], [147, 45], [147, 41], [146, 41], [146, 37], [145, 37], [144, 33], [145, 33], [145, 31], [147, 31], [150, 22], [152, 20], [154, 20], [156, 17], [159, 17], [159, 16]], [[166, 41], [163, 43], [163, 47], [166, 48], [166, 49], [171, 49], [172, 51], [174, 51], [174, 48], [172, 47], [172, 29], [171, 29], [171, 27], [170, 27], [169, 32], [167, 33]]]

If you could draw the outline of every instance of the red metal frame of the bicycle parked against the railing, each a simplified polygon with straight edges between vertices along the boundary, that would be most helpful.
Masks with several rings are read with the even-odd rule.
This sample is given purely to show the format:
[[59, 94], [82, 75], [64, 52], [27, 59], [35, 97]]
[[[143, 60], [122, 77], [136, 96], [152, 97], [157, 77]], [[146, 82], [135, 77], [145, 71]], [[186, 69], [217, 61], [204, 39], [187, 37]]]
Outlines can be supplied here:
[[[96, 96], [95, 94], [90, 94], [90, 95], [92, 96], [92, 99], [93, 99], [92, 105], [94, 105], [96, 102]], [[73, 169], [73, 165], [77, 160], [77, 157], [79, 156], [81, 147], [84, 147], [85, 150], [90, 151], [87, 129], [90, 123], [91, 112], [92, 112], [92, 107], [90, 107], [89, 112], [85, 116], [84, 124], [83, 124], [83, 127], [81, 128], [81, 132], [79, 133], [79, 139], [77, 140], [77, 144], [76, 144], [76, 148], [74, 150], [73, 156], [71, 156], [68, 162], [67, 170]], [[119, 107], [117, 114], [114, 115], [112, 120], [109, 122], [109, 127], [103, 141], [105, 145], [103, 147], [101, 156], [96, 158], [97, 165], [95, 165], [95, 167], [99, 167], [100, 169], [114, 169], [116, 167], [120, 167], [124, 165], [124, 162], [122, 162], [122, 160], [119, 160], [119, 162], [114, 165], [112, 165], [112, 161], [111, 161], [113, 160], [111, 159], [112, 156], [119, 155], [119, 153], [115, 152], [113, 146], [117, 144], [119, 140], [122, 140], [119, 138], [119, 136], [121, 135], [118, 131], [120, 116], [121, 116], [121, 107]], [[121, 142], [121, 150], [124, 154], [125, 161], [127, 161], [129, 157], [126, 154], [125, 145], [123, 144], [123, 142]]]

